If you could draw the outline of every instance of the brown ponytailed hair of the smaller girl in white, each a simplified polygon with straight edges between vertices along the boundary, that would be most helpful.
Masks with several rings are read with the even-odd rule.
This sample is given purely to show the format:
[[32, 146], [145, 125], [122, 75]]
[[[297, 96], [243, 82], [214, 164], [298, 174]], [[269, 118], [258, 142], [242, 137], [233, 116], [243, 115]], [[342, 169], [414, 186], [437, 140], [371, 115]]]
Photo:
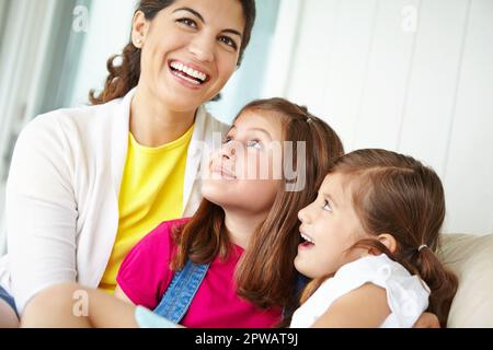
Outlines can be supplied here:
[[[428, 311], [446, 327], [458, 279], [435, 254], [445, 218], [445, 195], [438, 175], [411, 156], [376, 149], [342, 156], [329, 173], [347, 176], [355, 212], [365, 232], [375, 236], [389, 233], [397, 241], [394, 253], [374, 238], [362, 240], [352, 248], [383, 253], [420, 276], [431, 289]], [[310, 282], [301, 301], [324, 279]]]

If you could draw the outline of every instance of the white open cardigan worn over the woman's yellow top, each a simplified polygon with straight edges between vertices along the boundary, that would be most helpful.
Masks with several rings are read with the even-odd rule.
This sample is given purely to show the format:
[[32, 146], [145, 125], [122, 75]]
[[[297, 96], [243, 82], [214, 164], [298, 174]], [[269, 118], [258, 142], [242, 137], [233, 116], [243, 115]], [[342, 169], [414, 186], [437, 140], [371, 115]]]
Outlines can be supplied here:
[[[8, 256], [0, 283], [19, 312], [39, 291], [78, 281], [96, 288], [118, 226], [118, 194], [127, 155], [130, 102], [61, 109], [39, 116], [21, 132], [7, 184]], [[188, 149], [184, 217], [200, 201], [200, 148], [228, 126], [200, 107]]]

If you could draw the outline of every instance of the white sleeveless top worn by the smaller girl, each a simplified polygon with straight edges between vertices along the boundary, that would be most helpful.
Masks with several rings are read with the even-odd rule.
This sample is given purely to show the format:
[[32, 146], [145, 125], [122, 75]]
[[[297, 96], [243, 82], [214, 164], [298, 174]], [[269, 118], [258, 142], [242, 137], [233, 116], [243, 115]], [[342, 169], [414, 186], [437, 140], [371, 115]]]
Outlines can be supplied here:
[[312, 326], [335, 300], [368, 282], [387, 290], [391, 314], [380, 328], [410, 328], [428, 307], [429, 289], [426, 283], [381, 254], [366, 256], [340, 268], [295, 312], [290, 327]]

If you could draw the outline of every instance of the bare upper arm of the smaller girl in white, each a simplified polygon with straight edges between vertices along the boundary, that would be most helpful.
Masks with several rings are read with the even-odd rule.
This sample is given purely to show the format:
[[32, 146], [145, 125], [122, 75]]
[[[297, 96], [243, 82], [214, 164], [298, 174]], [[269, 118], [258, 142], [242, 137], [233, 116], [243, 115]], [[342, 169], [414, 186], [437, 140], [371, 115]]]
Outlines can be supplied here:
[[376, 328], [390, 313], [387, 291], [367, 283], [337, 299], [312, 327]]

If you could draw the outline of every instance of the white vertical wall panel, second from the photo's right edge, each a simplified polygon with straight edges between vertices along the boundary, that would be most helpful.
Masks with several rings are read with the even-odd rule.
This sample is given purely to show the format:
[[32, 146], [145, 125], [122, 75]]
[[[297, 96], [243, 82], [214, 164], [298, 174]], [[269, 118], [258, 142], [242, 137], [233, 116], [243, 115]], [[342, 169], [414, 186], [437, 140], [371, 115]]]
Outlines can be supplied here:
[[469, 9], [472, 0], [427, 0], [420, 11], [416, 52], [399, 151], [444, 175]]

